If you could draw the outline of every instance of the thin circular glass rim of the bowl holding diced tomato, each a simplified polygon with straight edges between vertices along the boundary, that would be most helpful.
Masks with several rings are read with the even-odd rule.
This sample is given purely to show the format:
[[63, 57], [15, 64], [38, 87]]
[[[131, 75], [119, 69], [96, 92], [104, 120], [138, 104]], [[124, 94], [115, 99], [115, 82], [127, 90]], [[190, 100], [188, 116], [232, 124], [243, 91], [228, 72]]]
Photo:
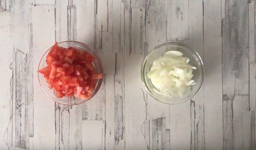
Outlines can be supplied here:
[[[98, 62], [98, 65], [99, 65], [100, 73], [103, 74], [102, 61], [101, 61], [99, 55], [97, 54], [97, 52], [96, 52], [93, 48], [91, 48], [91, 47], [88, 46], [87, 44], [84, 44], [84, 43], [79, 42], [79, 41], [74, 41], [74, 40], [61, 41], [61, 42], [59, 42], [59, 43], [57, 42], [57, 44], [60, 44], [60, 43], [68, 43], [68, 42], [79, 43], [79, 44], [81, 44], [81, 45], [85, 45], [85, 46], [87, 46], [91, 51], [95, 52], [95, 54], [96, 54], [96, 56], [97, 56], [97, 62]], [[53, 45], [53, 46], [54, 46], [54, 45]], [[51, 46], [50, 48], [48, 48], [48, 49], [44, 52], [44, 54], [42, 55], [42, 57], [41, 57], [41, 59], [40, 59], [40, 61], [39, 61], [38, 68], [37, 68], [37, 77], [38, 77], [39, 85], [40, 85], [41, 89], [44, 91], [44, 94], [47, 95], [47, 96], [48, 96], [51, 100], [53, 100], [54, 102], [59, 103], [59, 104], [62, 104], [62, 105], [67, 105], [67, 106], [79, 105], [79, 104], [82, 104], [82, 103], [84, 103], [84, 102], [89, 101], [89, 100], [90, 100], [91, 98], [93, 98], [93, 97], [97, 94], [97, 92], [99, 91], [103, 79], [98, 79], [98, 86], [95, 86], [95, 88], [94, 88], [94, 90], [97, 89], [97, 91], [95, 91], [95, 94], [94, 94], [91, 98], [89, 98], [89, 99], [87, 99], [87, 100], [85, 100], [85, 101], [83, 101], [83, 102], [81, 102], [81, 103], [77, 103], [77, 104], [65, 104], [65, 103], [57, 102], [57, 101], [54, 100], [51, 96], [49, 96], [49, 95], [45, 92], [45, 90], [43, 89], [43, 87], [42, 87], [42, 85], [41, 85], [41, 82], [40, 82], [40, 79], [39, 79], [39, 72], [38, 72], [38, 70], [39, 70], [39, 67], [40, 67], [40, 64], [41, 64], [41, 62], [42, 62], [42, 59], [43, 59], [44, 55], [45, 55], [45, 54], [49, 51], [49, 49], [51, 49], [53, 46]], [[98, 87], [98, 88], [97, 88], [97, 87]], [[70, 97], [70, 98], [72, 98], [72, 97]]]

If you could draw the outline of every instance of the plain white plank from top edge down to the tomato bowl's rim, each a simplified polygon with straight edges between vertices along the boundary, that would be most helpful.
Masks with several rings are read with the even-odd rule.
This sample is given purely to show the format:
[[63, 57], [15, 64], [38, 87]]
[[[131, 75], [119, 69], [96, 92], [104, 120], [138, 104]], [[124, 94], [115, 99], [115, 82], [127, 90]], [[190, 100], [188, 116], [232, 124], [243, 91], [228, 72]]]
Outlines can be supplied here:
[[94, 1], [75, 0], [76, 6], [76, 40], [94, 48]]

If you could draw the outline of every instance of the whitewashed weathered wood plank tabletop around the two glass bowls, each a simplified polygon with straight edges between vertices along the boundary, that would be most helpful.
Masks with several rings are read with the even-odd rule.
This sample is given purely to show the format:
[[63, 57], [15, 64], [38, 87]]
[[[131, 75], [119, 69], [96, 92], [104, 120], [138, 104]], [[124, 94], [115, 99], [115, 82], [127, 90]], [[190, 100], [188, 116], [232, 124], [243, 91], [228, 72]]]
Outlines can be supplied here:
[[[255, 150], [254, 0], [0, 0], [0, 149]], [[101, 89], [65, 106], [38, 82], [41, 56], [76, 40], [103, 61]], [[145, 55], [180, 41], [202, 57], [191, 100], [147, 94]]]

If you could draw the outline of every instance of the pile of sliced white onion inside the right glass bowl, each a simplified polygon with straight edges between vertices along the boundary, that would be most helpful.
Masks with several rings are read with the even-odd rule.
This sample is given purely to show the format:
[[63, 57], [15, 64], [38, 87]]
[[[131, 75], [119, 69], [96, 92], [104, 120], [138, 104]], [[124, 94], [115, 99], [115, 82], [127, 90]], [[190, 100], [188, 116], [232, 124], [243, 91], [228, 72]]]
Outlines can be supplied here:
[[191, 78], [193, 69], [188, 57], [183, 57], [180, 51], [168, 51], [158, 57], [152, 64], [147, 77], [157, 88], [156, 93], [161, 95], [177, 95], [183, 97], [191, 92], [191, 86], [196, 84]]

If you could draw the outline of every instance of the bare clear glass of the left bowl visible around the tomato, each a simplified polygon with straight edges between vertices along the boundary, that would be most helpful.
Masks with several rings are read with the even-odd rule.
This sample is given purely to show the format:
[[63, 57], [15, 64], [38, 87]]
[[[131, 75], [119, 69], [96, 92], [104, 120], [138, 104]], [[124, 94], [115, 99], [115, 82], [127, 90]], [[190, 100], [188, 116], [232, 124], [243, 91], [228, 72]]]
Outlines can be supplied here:
[[[77, 48], [77, 49], [80, 49], [80, 50], [83, 50], [83, 51], [86, 51], [87, 53], [93, 55], [94, 57], [96, 57], [96, 59], [94, 60], [93, 64], [95, 66], [95, 73], [102, 73], [103, 72], [103, 69], [102, 69], [102, 63], [101, 63], [101, 60], [99, 58], [99, 56], [97, 55], [97, 53], [92, 49], [90, 48], [88, 45], [86, 44], [83, 44], [81, 42], [77, 42], [77, 41], [62, 41], [60, 43], [58, 43], [58, 46], [61, 46], [61, 47], [64, 47], [64, 48], [68, 48], [68, 47], [74, 47], [74, 48]], [[39, 66], [38, 66], [38, 70], [45, 67], [47, 64], [46, 64], [46, 55], [48, 54], [49, 50], [51, 49], [52, 47], [50, 47], [42, 56], [40, 62], [39, 62]], [[83, 102], [86, 102], [87, 100], [83, 100], [83, 99], [79, 99], [79, 98], [76, 98], [75, 96], [73, 97], [63, 97], [63, 98], [57, 98], [55, 96], [55, 92], [53, 89], [50, 89], [48, 87], [48, 83], [45, 81], [44, 79], [44, 76], [43, 74], [41, 73], [38, 73], [38, 80], [39, 80], [39, 84], [40, 86], [42, 87], [44, 93], [52, 100], [54, 100], [55, 102], [57, 103], [60, 103], [60, 104], [64, 104], [64, 105], [77, 105], [77, 104], [81, 104]], [[101, 86], [101, 82], [102, 82], [102, 79], [98, 79], [96, 81], [96, 86], [93, 90], [93, 93], [92, 93], [92, 97], [97, 93], [97, 91], [99, 90], [100, 86]]]

